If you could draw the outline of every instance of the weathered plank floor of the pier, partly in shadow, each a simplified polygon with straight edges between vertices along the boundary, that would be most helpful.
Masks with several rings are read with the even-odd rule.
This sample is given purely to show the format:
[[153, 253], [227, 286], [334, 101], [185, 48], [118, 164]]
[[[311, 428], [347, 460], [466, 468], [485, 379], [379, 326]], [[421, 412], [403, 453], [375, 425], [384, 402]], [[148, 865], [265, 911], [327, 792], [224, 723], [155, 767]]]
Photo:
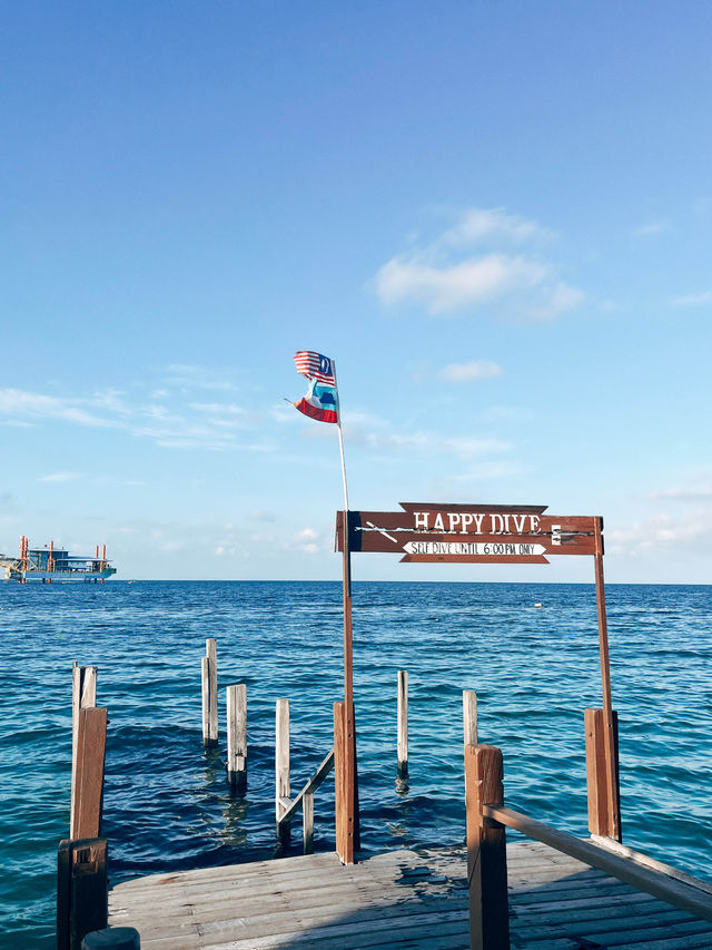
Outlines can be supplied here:
[[[510, 843], [507, 865], [517, 950], [712, 947], [712, 922], [540, 842]], [[109, 922], [135, 927], [141, 950], [465, 950], [466, 868], [465, 849], [448, 848], [155, 874], [113, 888]]]

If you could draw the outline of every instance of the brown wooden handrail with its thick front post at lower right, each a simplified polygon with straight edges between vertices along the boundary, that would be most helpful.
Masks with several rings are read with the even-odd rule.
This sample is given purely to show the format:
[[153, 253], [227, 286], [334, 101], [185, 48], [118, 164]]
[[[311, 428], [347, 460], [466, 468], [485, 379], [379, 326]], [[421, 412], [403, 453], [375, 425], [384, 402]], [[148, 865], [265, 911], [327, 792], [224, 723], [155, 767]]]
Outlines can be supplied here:
[[502, 752], [465, 746], [467, 881], [472, 950], [508, 950], [505, 829], [512, 827], [599, 868], [702, 920], [712, 921], [712, 885], [624, 848], [614, 840], [583, 841], [504, 806]]

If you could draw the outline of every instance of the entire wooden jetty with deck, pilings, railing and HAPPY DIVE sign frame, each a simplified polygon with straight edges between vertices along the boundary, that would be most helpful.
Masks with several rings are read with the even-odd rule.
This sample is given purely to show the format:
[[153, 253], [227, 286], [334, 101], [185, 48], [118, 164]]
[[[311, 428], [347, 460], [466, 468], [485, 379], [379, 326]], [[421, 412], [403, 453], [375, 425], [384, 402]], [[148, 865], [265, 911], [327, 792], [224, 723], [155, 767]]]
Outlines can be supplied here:
[[[611, 704], [597, 517], [546, 516], [543, 507], [402, 505], [399, 512], [344, 510], [344, 699], [334, 704], [334, 747], [293, 796], [289, 705], [276, 709], [277, 836], [298, 811], [303, 856], [155, 874], [117, 885], [107, 900], [100, 838], [107, 711], [96, 670], [75, 669], [70, 839], [58, 863], [58, 948], [267, 950], [267, 948], [465, 948], [471, 950], [693, 950], [712, 947], [712, 885], [621, 843], [617, 718]], [[396, 851], [359, 860], [353, 698], [353, 551], [402, 560], [545, 562], [594, 560], [603, 708], [585, 711], [591, 840], [505, 805], [503, 755], [481, 744], [476, 698], [463, 695], [465, 848]], [[247, 784], [247, 697], [228, 691], [228, 780]], [[202, 660], [204, 744], [218, 742], [217, 649]], [[397, 770], [407, 773], [407, 675], [398, 675]], [[313, 854], [314, 794], [335, 773], [335, 853]], [[531, 839], [506, 842], [506, 829]], [[108, 929], [106, 924], [110, 923]], [[85, 942], [82, 943], [82, 939]]]

